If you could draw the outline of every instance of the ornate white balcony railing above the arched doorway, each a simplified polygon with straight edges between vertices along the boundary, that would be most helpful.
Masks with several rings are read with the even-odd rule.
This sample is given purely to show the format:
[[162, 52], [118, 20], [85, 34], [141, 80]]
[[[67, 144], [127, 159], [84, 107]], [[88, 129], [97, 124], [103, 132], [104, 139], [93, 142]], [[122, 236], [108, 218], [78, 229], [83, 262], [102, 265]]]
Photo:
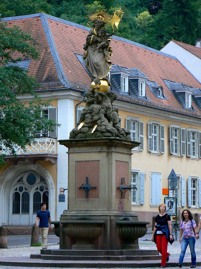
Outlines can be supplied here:
[[[29, 155], [29, 154], [56, 154], [56, 139], [49, 137], [39, 137], [35, 138], [35, 141], [32, 142], [31, 146], [26, 146], [26, 151], [16, 147], [15, 152], [17, 155]], [[9, 151], [1, 151], [0, 154], [10, 155]]]

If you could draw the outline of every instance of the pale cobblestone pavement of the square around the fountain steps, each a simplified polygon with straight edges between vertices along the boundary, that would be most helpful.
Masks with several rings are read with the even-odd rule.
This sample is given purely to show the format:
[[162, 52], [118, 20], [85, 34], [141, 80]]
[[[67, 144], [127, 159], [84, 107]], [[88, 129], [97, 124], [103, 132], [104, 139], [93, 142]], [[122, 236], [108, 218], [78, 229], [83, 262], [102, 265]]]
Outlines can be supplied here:
[[[52, 241], [54, 241], [52, 236]], [[50, 238], [50, 236], [49, 236]], [[15, 238], [16, 239], [16, 238]], [[139, 239], [139, 246], [141, 249], [156, 249], [156, 245], [155, 243], [149, 241], [151, 239], [151, 234], [146, 234], [143, 238]], [[145, 241], [144, 241], [145, 240]], [[9, 241], [9, 240], [8, 240]], [[50, 242], [51, 240], [49, 240]], [[58, 241], [58, 238], [55, 238], [55, 242]], [[196, 256], [197, 258], [200, 258], [200, 247], [201, 247], [201, 240], [196, 240], [196, 245], [195, 245], [195, 252], [196, 252]], [[15, 244], [16, 245], [16, 244]], [[48, 244], [48, 248], [59, 248], [59, 244]], [[32, 253], [40, 253], [40, 249], [41, 247], [30, 247], [30, 246], [23, 246], [23, 247], [19, 247], [19, 246], [15, 246], [15, 247], [8, 247], [7, 249], [0, 249], [0, 257], [19, 257], [19, 256], [29, 256]], [[168, 252], [171, 253], [170, 259], [171, 262], [178, 262], [179, 260], [179, 255], [180, 255], [180, 251], [181, 251], [181, 244], [177, 241], [174, 242], [172, 244], [172, 246], [170, 244], [168, 244]], [[186, 250], [186, 255], [184, 258], [184, 262], [190, 262], [191, 261], [191, 253], [190, 253], [190, 249], [189, 247]], [[0, 265], [0, 269], [36, 269], [35, 267], [16, 267], [16, 266], [2, 266]], [[158, 267], [152, 267], [152, 269], [154, 268], [158, 268]], [[168, 267], [168, 264], [166, 264], [166, 268], [175, 268], [175, 267]], [[189, 268], [183, 266], [182, 268]], [[196, 268], [200, 268], [201, 266], [197, 266]], [[37, 267], [37, 269], [56, 269], [55, 267]], [[77, 269], [77, 268], [71, 268], [71, 269]], [[84, 269], [84, 268], [82, 268]], [[87, 268], [86, 268], [87, 269]], [[90, 268], [90, 269], [97, 269], [97, 268]], [[99, 268], [101, 269], [101, 268]], [[114, 269], [131, 269], [131, 268], [114, 268]], [[151, 268], [147, 268], [147, 269], [151, 269]]]

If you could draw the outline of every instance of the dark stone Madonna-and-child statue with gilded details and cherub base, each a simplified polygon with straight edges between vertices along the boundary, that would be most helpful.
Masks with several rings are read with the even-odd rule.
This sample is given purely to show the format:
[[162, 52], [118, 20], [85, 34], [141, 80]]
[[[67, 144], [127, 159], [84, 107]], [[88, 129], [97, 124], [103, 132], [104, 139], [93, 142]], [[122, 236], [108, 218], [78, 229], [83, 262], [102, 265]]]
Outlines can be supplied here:
[[[109, 91], [108, 74], [111, 67], [110, 56], [112, 56], [110, 42], [114, 28], [118, 27], [121, 20], [119, 14], [122, 17], [121, 9], [115, 11], [112, 20], [105, 11], [89, 16], [93, 21], [93, 28], [90, 27], [91, 30], [86, 38], [83, 59], [92, 74], [92, 83], [90, 91], [86, 94], [86, 106], [77, 127], [70, 132], [70, 139], [97, 137], [131, 139], [130, 131], [121, 128], [118, 108], [113, 106], [116, 94]], [[104, 26], [110, 21], [112, 26], [115, 24], [115, 27], [113, 32], [108, 34]]]

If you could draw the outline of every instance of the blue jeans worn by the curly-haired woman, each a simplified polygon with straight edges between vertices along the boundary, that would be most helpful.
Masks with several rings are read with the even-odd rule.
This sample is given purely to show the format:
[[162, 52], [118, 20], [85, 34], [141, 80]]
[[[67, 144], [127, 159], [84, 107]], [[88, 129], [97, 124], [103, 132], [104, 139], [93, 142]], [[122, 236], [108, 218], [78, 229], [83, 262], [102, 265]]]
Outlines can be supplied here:
[[196, 265], [196, 255], [195, 255], [195, 237], [188, 237], [182, 238], [182, 244], [181, 244], [181, 254], [179, 257], [179, 263], [182, 264], [183, 263], [183, 259], [184, 259], [184, 255], [186, 253], [186, 249], [188, 247], [190, 247], [191, 250], [191, 264], [192, 265]]

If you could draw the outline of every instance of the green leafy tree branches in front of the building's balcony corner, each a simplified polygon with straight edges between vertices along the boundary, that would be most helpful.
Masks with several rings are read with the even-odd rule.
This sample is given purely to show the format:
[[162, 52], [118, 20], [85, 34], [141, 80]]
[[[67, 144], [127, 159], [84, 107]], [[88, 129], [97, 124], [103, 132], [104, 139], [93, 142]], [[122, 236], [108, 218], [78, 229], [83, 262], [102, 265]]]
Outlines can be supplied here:
[[[0, 23], [0, 40], [0, 152], [15, 155], [15, 147], [25, 149], [34, 141], [36, 130], [52, 130], [55, 123], [41, 115], [50, 102], [40, 99], [35, 92], [38, 83], [19, 67], [24, 59], [40, 58], [36, 42], [17, 26], [7, 27], [5, 23]], [[25, 94], [31, 98], [22, 103]], [[1, 155], [0, 166], [4, 163]]]

